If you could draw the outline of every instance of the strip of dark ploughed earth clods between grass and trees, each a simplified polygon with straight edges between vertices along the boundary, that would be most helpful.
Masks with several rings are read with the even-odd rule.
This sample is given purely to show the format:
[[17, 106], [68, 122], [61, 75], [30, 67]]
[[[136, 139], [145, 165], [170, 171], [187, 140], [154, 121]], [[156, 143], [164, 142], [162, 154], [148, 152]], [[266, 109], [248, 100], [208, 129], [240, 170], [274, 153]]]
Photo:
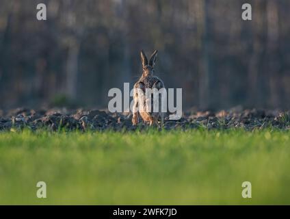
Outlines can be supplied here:
[[[29, 110], [18, 108], [0, 114], [0, 131], [18, 129], [80, 130], [80, 131], [134, 131], [149, 129], [142, 123], [133, 126], [131, 114], [110, 113], [102, 110]], [[166, 116], [164, 129], [290, 129], [290, 112], [278, 110], [242, 110], [236, 107], [220, 112], [188, 110], [180, 120]]]

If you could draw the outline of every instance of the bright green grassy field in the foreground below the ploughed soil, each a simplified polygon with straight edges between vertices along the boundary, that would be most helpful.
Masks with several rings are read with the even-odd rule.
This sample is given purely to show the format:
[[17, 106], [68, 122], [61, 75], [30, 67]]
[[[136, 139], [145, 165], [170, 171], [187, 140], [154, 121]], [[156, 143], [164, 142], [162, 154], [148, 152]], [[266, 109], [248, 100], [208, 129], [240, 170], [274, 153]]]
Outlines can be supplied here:
[[0, 204], [290, 204], [289, 155], [289, 131], [0, 133]]

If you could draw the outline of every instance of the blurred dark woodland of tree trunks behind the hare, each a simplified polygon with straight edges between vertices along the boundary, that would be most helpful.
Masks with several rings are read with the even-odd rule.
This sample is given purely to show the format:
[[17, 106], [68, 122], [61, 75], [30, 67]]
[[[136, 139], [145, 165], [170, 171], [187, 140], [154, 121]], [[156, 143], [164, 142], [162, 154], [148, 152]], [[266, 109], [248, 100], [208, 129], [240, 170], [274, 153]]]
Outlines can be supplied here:
[[[47, 21], [36, 5], [47, 5]], [[241, 5], [252, 4], [252, 21]], [[106, 107], [110, 88], [156, 75], [183, 107], [290, 107], [289, 0], [0, 0], [0, 107]]]

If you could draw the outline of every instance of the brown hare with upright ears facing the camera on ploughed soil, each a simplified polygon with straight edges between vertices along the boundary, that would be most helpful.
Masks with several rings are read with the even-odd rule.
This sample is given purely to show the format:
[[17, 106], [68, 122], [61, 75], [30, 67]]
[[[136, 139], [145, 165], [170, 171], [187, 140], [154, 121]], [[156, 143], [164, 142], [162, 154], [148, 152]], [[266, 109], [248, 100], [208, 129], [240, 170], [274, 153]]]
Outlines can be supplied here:
[[[157, 50], [151, 55], [150, 60], [148, 62], [147, 57], [144, 51], [141, 51], [141, 60], [142, 60], [142, 67], [143, 73], [140, 79], [135, 83], [133, 89], [133, 125], [137, 125], [139, 122], [139, 114], [144, 120], [145, 123], [149, 123], [150, 125], [156, 124], [158, 125], [158, 118], [161, 119], [161, 127], [163, 126], [163, 112], [161, 112], [161, 97], [159, 98], [159, 111], [153, 112], [153, 103], [154, 101], [148, 99], [145, 95], [146, 89], [153, 89], [156, 88], [160, 90], [164, 88], [164, 83], [161, 79], [156, 77], [154, 74], [154, 66], [157, 59]], [[150, 95], [151, 97], [151, 95]], [[150, 107], [150, 108], [149, 108]], [[150, 110], [148, 110], [150, 109]]]

